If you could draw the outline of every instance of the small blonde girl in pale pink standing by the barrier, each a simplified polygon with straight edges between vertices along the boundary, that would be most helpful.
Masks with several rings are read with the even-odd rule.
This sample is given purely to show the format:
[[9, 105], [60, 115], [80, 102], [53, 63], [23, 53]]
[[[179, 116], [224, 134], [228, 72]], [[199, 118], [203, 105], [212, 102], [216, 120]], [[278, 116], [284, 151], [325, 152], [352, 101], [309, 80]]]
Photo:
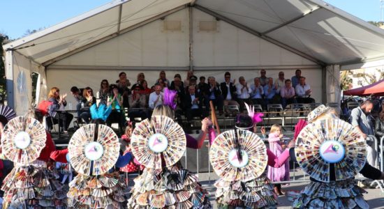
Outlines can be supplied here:
[[[281, 138], [283, 134], [281, 134], [280, 125], [274, 124], [271, 127], [268, 135], [269, 141], [269, 150], [276, 155], [276, 157], [280, 157], [281, 153], [283, 153], [284, 148], [281, 146]], [[279, 182], [284, 180], [289, 180], [289, 162], [288, 160], [279, 168], [274, 168], [268, 166], [268, 174], [267, 177], [272, 182]], [[283, 195], [281, 192], [281, 184], [274, 185], [274, 192], [278, 195]]]

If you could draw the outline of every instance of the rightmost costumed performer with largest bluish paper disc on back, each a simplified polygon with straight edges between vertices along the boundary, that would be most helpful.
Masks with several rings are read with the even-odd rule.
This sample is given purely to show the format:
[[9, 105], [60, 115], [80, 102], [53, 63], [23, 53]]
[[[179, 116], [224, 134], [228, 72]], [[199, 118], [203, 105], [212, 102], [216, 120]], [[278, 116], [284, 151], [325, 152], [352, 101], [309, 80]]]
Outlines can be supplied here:
[[[309, 124], [297, 137], [296, 148], [290, 149], [290, 156], [311, 175], [311, 183], [300, 193], [290, 192], [288, 198], [293, 201], [293, 208], [369, 208], [362, 196], [364, 190], [357, 187], [354, 176], [358, 172], [367, 178], [378, 180], [384, 179], [384, 173], [366, 163], [365, 141], [360, 136], [360, 132], [356, 132], [352, 125], [341, 121], [334, 109], [324, 105], [311, 111], [308, 122]], [[311, 137], [323, 135], [320, 137], [326, 139], [327, 132], [331, 133], [331, 139], [322, 141], [320, 148], [318, 145], [311, 146], [311, 143], [317, 143]], [[334, 134], [335, 132], [338, 134]], [[328, 141], [337, 144], [337, 148], [332, 145], [332, 150], [322, 150], [321, 147]], [[312, 152], [320, 153], [321, 157], [318, 159], [321, 161], [317, 164], [312, 162], [312, 159], [317, 157], [313, 156], [312, 152], [308, 154], [312, 155], [310, 158], [304, 155], [302, 149], [306, 148], [307, 144], [313, 148]], [[352, 150], [348, 149], [348, 146], [352, 146]], [[344, 149], [345, 154], [341, 153], [339, 161], [328, 160], [329, 154], [326, 153], [337, 154]], [[355, 153], [358, 154], [355, 155]], [[349, 155], [354, 157], [349, 159]], [[348, 160], [348, 163], [343, 160]], [[317, 167], [320, 162], [323, 163], [323, 169], [320, 172], [313, 172], [313, 167]]]

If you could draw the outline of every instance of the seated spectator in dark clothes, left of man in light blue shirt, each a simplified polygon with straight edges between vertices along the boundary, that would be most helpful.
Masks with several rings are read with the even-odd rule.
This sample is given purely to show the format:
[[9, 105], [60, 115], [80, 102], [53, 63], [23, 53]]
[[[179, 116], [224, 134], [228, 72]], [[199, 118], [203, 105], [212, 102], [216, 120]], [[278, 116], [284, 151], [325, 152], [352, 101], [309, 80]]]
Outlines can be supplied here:
[[145, 95], [140, 93], [144, 88], [140, 84], [133, 84], [131, 91], [132, 94], [128, 96], [129, 111], [128, 118], [134, 121], [134, 118], [141, 118], [142, 120], [148, 118], [147, 109], [145, 109], [146, 98]]

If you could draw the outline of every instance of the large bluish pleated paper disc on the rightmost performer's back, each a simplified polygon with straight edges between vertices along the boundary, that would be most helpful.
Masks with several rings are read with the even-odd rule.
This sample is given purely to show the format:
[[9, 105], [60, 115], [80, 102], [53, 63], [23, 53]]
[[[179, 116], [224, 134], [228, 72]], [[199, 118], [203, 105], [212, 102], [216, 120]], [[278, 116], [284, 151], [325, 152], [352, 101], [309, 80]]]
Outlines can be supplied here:
[[360, 132], [339, 119], [310, 123], [296, 141], [296, 158], [312, 178], [330, 182], [330, 164], [335, 180], [353, 178], [364, 167], [367, 151]]

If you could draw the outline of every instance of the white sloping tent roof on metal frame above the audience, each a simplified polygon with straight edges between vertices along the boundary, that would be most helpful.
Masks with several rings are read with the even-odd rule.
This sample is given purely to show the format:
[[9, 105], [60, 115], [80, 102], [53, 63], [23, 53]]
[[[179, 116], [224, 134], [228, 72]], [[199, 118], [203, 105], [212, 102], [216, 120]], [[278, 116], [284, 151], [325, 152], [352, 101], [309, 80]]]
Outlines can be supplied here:
[[50, 65], [195, 6], [320, 65], [384, 57], [384, 31], [319, 0], [116, 0], [6, 45]]

